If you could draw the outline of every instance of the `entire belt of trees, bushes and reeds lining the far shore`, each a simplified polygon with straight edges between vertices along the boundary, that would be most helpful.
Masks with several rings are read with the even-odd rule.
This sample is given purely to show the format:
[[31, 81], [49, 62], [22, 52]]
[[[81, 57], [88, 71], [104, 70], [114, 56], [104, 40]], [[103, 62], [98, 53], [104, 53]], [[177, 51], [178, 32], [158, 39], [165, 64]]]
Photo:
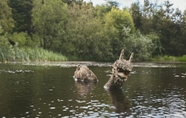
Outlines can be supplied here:
[[186, 10], [172, 5], [2, 0], [0, 61], [114, 61], [121, 49], [134, 61], [186, 61]]

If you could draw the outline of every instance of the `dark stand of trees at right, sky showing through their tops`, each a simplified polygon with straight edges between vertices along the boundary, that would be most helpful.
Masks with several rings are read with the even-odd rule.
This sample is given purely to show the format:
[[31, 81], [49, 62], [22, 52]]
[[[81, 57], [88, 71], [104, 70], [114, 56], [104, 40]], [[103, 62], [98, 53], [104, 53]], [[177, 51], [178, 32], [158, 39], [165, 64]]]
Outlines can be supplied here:
[[[181, 56], [186, 54], [185, 46], [186, 19], [185, 14], [179, 9], [173, 9], [170, 1], [164, 1], [164, 4], [150, 3], [149, 0], [144, 1], [144, 6], [140, 6], [138, 2], [132, 4], [131, 13], [136, 28], [142, 34], [154, 32], [160, 38], [161, 51], [153, 53], [153, 55], [172, 55]], [[186, 11], [185, 11], [186, 12]]]

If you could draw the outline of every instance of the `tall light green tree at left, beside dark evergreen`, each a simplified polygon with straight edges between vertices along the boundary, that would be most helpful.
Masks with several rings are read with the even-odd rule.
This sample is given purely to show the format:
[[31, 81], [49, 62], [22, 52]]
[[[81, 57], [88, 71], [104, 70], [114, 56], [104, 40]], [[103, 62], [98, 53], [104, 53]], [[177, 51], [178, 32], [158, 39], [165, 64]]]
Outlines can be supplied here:
[[44, 49], [55, 50], [65, 36], [67, 5], [61, 0], [34, 0], [32, 22], [34, 33]]

